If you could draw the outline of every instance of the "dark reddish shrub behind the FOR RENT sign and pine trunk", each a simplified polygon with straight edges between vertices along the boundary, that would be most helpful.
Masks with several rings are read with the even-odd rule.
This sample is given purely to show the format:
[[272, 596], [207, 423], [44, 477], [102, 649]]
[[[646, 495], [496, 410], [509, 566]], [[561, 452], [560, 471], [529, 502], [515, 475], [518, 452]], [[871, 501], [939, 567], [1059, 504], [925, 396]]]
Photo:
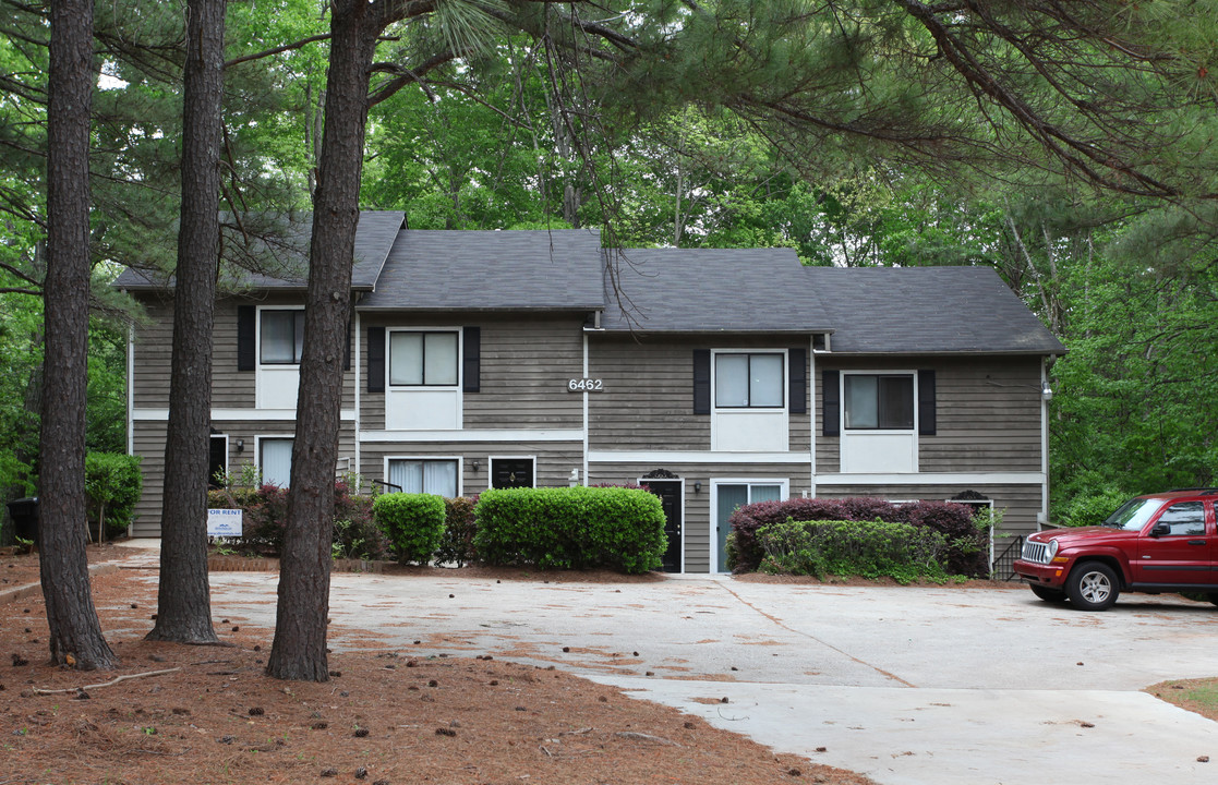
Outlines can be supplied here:
[[[287, 489], [278, 486], [222, 488], [207, 492], [207, 506], [241, 510], [241, 537], [225, 545], [248, 556], [278, 556], [287, 526]], [[334, 554], [336, 559], [384, 559], [389, 540], [373, 521], [371, 498], [334, 486]]]

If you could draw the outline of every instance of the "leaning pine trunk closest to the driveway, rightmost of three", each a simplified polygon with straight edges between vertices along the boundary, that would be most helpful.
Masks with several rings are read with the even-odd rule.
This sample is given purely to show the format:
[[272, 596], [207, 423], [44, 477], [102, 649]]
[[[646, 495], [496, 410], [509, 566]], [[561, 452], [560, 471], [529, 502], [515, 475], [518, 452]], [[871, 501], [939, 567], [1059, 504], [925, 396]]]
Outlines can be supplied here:
[[343, 0], [335, 1], [330, 11], [330, 71], [313, 201], [287, 531], [280, 557], [275, 639], [267, 662], [267, 674], [280, 679], [329, 679], [325, 626], [330, 607], [334, 467], [368, 83], [376, 37], [384, 29], [379, 9], [380, 4], [367, 0]]

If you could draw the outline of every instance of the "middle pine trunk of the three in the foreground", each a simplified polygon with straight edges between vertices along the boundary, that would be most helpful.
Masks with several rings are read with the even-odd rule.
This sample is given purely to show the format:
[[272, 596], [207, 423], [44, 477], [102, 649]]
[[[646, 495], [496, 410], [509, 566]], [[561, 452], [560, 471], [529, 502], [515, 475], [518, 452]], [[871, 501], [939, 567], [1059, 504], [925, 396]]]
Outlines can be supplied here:
[[161, 579], [149, 640], [218, 643], [207, 584], [212, 326], [219, 264], [225, 0], [190, 0], [183, 89], [181, 224], [164, 443]]

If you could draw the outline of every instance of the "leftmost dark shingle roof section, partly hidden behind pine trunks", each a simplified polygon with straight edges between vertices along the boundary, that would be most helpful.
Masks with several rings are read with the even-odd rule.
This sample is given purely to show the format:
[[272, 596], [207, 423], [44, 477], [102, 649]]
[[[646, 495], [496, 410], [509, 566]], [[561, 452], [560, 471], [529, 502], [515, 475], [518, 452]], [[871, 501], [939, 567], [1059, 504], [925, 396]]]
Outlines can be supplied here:
[[[404, 215], [401, 211], [363, 211], [359, 213], [359, 225], [356, 229], [354, 265], [351, 270], [351, 287], [353, 290], [368, 291], [376, 285], [381, 267], [384, 267], [393, 240], [402, 228]], [[278, 232], [267, 232], [266, 236], [262, 236], [255, 229], [253, 236], [257, 239], [253, 240], [248, 249], [242, 248], [240, 241], [227, 241], [225, 252], [228, 256], [247, 257], [255, 263], [248, 267], [261, 267], [262, 271], [251, 273], [240, 267], [230, 265], [227, 269], [235, 269], [235, 276], [225, 279], [223, 287], [228, 290], [304, 288], [308, 282], [308, 242], [313, 229], [312, 213], [263, 214], [250, 217], [247, 222], [251, 228], [253, 224], [262, 226], [279, 224]], [[233, 236], [235, 231], [227, 229], [225, 234]], [[113, 286], [133, 291], [167, 288], [173, 286], [173, 279], [127, 269], [114, 280]]]

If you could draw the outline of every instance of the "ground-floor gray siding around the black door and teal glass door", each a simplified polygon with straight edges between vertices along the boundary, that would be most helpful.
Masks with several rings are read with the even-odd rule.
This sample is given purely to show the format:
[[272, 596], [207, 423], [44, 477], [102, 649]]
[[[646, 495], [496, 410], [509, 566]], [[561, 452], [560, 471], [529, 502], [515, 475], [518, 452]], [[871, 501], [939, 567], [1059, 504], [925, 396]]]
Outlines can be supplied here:
[[[593, 462], [588, 465], [588, 483], [637, 483], [639, 477], [657, 469], [665, 469], [685, 480], [682, 546], [685, 571], [689, 573], [710, 572], [710, 548], [715, 542], [710, 509], [713, 480], [787, 481], [790, 497], [803, 495], [810, 489], [809, 469], [798, 464], [693, 464], [663, 459], [652, 464]], [[694, 488], [698, 482], [702, 483], [700, 490]]]

